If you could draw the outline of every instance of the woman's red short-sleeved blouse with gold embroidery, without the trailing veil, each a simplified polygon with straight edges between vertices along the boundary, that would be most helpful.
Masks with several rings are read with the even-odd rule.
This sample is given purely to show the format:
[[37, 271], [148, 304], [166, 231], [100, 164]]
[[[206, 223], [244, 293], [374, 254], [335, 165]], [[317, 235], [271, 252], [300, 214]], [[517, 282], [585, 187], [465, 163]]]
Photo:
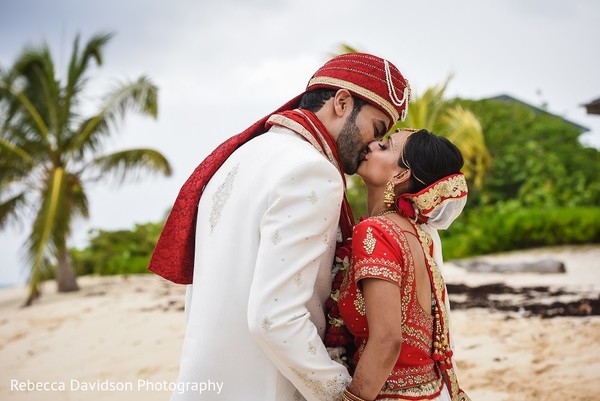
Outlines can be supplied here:
[[359, 223], [352, 236], [352, 263], [342, 284], [339, 309], [355, 337], [358, 363], [369, 338], [365, 301], [360, 280], [386, 280], [400, 289], [402, 302], [402, 347], [380, 396], [409, 396], [429, 399], [442, 390], [441, 375], [432, 358], [434, 319], [417, 300], [415, 266], [407, 235], [386, 217], [371, 217]]

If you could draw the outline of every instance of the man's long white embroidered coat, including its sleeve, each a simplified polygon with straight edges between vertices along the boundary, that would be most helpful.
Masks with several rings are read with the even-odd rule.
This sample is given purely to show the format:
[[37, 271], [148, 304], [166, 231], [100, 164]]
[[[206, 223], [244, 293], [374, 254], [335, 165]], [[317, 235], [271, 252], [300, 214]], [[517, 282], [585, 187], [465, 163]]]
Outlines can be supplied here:
[[321, 338], [342, 195], [338, 170], [280, 127], [216, 172], [198, 209], [173, 401], [341, 397], [350, 376]]

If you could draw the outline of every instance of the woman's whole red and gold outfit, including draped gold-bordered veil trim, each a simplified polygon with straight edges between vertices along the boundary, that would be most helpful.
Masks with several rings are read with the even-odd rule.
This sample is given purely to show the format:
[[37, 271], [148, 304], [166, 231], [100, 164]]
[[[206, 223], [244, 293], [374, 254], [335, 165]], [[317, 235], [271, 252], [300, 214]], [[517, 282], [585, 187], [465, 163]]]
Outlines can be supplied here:
[[[459, 177], [458, 181], [462, 182], [464, 178], [462, 175]], [[464, 191], [462, 185], [459, 184], [460, 190], [454, 191], [456, 196], [466, 196], [466, 184]], [[432, 187], [427, 189], [431, 201], [435, 198], [431, 196]], [[434, 193], [440, 195], [439, 191]], [[442, 195], [434, 200], [436, 206], [443, 198]], [[402, 347], [377, 399], [430, 400], [439, 397], [446, 386], [453, 401], [469, 400], [459, 388], [453, 368], [447, 294], [434, 258], [434, 241], [419, 224], [426, 221], [427, 216], [420, 213], [419, 206], [423, 205], [418, 205], [414, 199], [411, 202], [415, 204], [416, 211], [410, 216], [414, 221], [409, 218], [413, 223], [411, 231], [403, 230], [385, 216], [368, 218], [354, 229], [352, 263], [346, 272], [338, 300], [341, 318], [354, 336], [357, 351], [353, 360], [358, 362], [369, 337], [365, 302], [358, 283], [365, 278], [392, 282], [398, 285], [401, 292], [402, 316], [399, 318], [402, 323]], [[400, 209], [401, 214], [410, 214], [410, 210], [406, 213], [405, 207]], [[405, 211], [402, 212], [402, 209]], [[411, 235], [418, 238], [425, 255], [432, 289], [431, 314], [423, 310], [417, 300], [415, 267], [407, 239]]]

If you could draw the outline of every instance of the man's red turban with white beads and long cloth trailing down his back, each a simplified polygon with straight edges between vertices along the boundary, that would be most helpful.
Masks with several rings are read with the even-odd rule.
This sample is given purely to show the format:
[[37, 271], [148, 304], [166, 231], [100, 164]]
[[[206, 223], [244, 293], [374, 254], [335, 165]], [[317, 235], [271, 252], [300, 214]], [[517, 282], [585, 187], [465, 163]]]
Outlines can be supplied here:
[[[344, 54], [329, 60], [313, 75], [306, 90], [317, 88], [348, 90], [388, 115], [391, 120], [388, 129], [404, 119], [410, 96], [408, 82], [396, 67], [387, 60], [364, 53]], [[297, 108], [301, 98], [302, 94], [271, 114]], [[267, 130], [265, 123], [271, 114], [226, 140], [196, 167], [179, 191], [148, 269], [175, 283], [192, 282], [196, 213], [202, 189], [238, 147]]]

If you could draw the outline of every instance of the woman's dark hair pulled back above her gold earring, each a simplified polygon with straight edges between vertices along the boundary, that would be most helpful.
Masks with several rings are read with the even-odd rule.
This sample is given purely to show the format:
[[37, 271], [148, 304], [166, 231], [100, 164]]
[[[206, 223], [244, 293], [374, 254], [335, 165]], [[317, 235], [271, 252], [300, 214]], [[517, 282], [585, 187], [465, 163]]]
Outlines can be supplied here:
[[448, 139], [427, 130], [411, 134], [404, 145], [398, 165], [411, 170], [410, 192], [419, 192], [463, 167], [460, 150]]

